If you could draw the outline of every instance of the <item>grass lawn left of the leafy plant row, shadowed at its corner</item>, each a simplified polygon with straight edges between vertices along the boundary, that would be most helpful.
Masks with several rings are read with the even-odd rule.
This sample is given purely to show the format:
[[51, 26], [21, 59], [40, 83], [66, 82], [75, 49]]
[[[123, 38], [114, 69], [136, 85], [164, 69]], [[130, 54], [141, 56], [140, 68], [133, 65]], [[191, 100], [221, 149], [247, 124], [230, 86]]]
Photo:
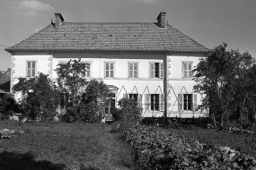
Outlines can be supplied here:
[[132, 169], [128, 145], [104, 123], [1, 121], [0, 130], [24, 134], [0, 139], [0, 169]]

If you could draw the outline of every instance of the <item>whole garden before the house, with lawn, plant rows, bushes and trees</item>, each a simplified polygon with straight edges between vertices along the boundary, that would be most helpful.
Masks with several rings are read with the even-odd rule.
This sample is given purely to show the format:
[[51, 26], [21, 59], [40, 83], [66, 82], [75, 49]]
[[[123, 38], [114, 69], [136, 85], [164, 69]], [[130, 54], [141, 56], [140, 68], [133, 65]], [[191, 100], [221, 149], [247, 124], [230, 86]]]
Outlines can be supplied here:
[[[84, 79], [80, 59], [56, 72], [56, 81], [20, 78], [13, 91], [22, 100], [1, 99], [1, 169], [256, 169], [256, 67], [247, 53], [224, 44], [193, 70], [207, 118], [142, 118], [131, 98], [110, 110], [108, 87]], [[101, 123], [106, 110], [115, 122]], [[20, 121], [7, 120], [15, 113]]]

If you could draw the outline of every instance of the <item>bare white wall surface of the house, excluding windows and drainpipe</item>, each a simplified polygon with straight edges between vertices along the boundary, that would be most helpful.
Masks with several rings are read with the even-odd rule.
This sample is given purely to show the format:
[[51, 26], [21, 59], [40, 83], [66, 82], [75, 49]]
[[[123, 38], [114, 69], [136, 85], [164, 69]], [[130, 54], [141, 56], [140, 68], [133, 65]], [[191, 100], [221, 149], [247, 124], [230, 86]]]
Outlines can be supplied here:
[[[12, 85], [17, 83], [17, 78], [26, 76], [26, 61], [37, 61], [37, 72], [49, 73], [53, 79], [57, 78], [57, 73], [54, 70], [59, 62], [68, 62], [69, 59], [82, 58], [83, 62], [91, 63], [91, 76], [95, 79], [104, 81], [107, 85], [114, 85], [119, 88], [118, 98], [123, 98], [125, 93], [144, 94], [142, 103], [145, 103], [145, 94], [162, 94], [163, 79], [149, 78], [149, 62], [163, 63], [167, 59], [168, 65], [168, 113], [169, 116], [203, 116], [199, 113], [181, 113], [178, 112], [176, 96], [182, 92], [182, 87], [187, 89], [188, 93], [192, 93], [192, 88], [195, 84], [191, 79], [184, 79], [181, 76], [182, 61], [191, 61], [193, 65], [199, 64], [201, 56], [189, 55], [166, 55], [164, 54], [138, 54], [138, 53], [56, 53], [53, 55], [13, 55], [13, 71]], [[115, 62], [115, 78], [104, 77], [104, 62]], [[138, 79], [128, 78], [128, 62], [137, 62]], [[184, 89], [183, 89], [184, 90]], [[17, 96], [17, 98], [20, 98]], [[198, 104], [200, 104], [198, 97]], [[197, 114], [197, 115], [195, 115]], [[163, 112], [145, 112], [144, 116], [163, 116]]]

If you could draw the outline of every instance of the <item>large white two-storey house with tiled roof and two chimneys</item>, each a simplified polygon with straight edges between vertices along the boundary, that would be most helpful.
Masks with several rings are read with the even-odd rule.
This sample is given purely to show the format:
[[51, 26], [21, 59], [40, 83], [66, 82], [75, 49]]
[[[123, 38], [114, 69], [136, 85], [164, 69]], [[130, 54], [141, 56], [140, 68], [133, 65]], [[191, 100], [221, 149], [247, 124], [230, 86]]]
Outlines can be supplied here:
[[[199, 94], [191, 70], [208, 49], [166, 23], [166, 13], [156, 22], [56, 21], [5, 50], [12, 54], [11, 87], [19, 77], [37, 72], [57, 78], [57, 64], [82, 58], [90, 64], [87, 79], [98, 79], [112, 91], [111, 105], [119, 98], [136, 98], [143, 116], [206, 116], [197, 110]], [[15, 98], [21, 98], [17, 94]]]

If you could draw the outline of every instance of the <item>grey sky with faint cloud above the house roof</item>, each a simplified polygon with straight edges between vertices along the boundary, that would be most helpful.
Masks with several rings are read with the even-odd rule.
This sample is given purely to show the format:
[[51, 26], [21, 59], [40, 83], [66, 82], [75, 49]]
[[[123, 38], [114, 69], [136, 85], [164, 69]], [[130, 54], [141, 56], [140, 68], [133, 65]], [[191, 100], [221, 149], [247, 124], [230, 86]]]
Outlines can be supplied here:
[[155, 22], [166, 20], [207, 48], [227, 43], [256, 57], [256, 0], [1, 0], [0, 71], [11, 67], [4, 51], [55, 21]]

